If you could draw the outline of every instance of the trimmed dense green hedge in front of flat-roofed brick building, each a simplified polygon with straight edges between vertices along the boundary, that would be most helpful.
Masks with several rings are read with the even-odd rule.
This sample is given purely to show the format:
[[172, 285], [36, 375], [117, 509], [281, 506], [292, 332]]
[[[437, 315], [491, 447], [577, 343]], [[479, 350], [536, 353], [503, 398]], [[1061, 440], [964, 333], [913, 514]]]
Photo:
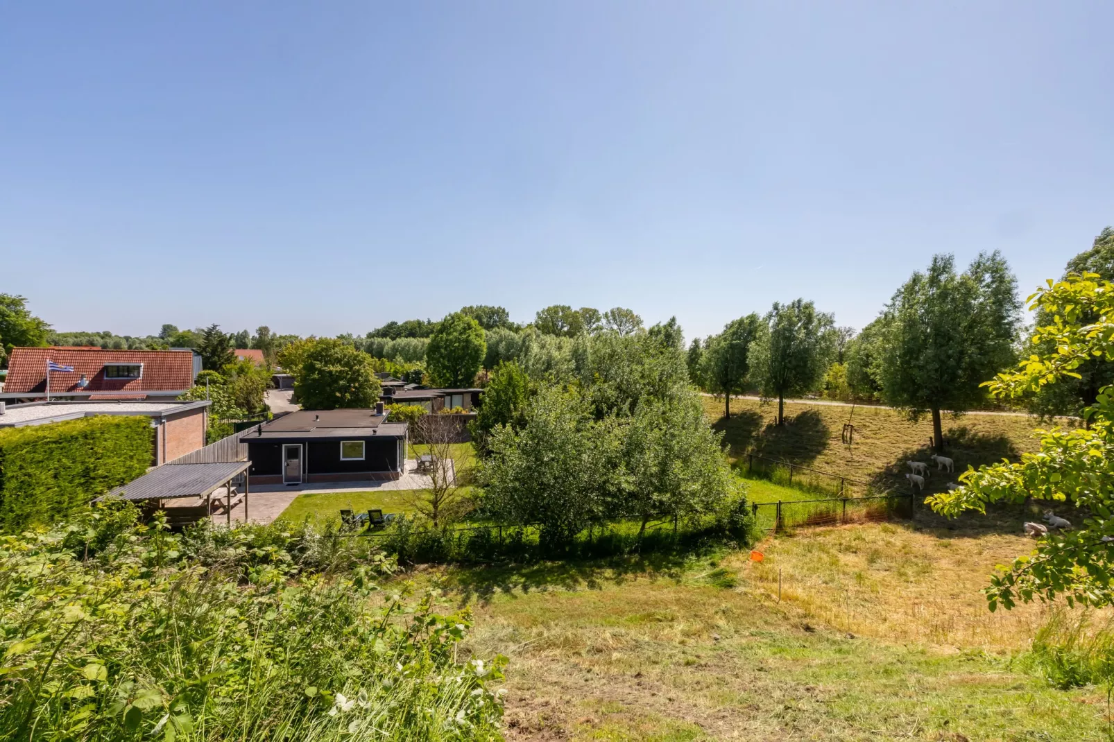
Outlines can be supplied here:
[[146, 417], [97, 416], [0, 429], [0, 531], [50, 524], [154, 461]]

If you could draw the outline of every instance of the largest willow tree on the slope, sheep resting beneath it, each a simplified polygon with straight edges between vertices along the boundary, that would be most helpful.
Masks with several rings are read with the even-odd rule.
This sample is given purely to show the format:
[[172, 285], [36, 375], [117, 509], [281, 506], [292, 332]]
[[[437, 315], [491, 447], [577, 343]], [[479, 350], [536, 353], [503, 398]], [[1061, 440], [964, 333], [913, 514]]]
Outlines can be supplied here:
[[898, 289], [882, 313], [882, 401], [913, 419], [930, 412], [932, 443], [944, 451], [940, 411], [962, 412], [986, 399], [980, 384], [1016, 362], [1017, 281], [995, 251], [964, 273], [936, 255]]

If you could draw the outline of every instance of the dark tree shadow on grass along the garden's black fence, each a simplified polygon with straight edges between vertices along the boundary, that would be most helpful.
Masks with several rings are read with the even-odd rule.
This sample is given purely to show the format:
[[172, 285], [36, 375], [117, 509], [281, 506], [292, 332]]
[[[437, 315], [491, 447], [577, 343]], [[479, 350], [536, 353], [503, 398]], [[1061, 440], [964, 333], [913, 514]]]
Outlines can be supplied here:
[[685, 565], [704, 551], [688, 549], [602, 559], [459, 566], [448, 573], [448, 587], [459, 593], [463, 606], [472, 601], [487, 603], [496, 592], [525, 595], [550, 589], [602, 589], [605, 584], [622, 585], [639, 577], [680, 580]]

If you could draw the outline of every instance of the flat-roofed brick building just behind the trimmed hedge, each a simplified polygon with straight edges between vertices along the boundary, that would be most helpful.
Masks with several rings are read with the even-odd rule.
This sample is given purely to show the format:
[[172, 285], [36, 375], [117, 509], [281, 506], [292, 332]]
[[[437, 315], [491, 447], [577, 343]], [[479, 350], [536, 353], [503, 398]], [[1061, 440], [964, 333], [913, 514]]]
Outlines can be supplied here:
[[208, 400], [196, 402], [0, 402], [0, 429], [41, 426], [95, 414], [146, 416], [155, 429], [152, 461], [160, 466], [205, 446]]

